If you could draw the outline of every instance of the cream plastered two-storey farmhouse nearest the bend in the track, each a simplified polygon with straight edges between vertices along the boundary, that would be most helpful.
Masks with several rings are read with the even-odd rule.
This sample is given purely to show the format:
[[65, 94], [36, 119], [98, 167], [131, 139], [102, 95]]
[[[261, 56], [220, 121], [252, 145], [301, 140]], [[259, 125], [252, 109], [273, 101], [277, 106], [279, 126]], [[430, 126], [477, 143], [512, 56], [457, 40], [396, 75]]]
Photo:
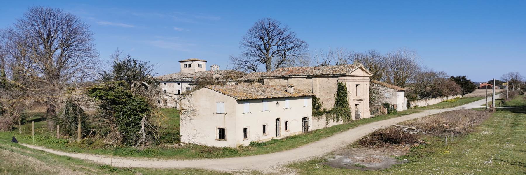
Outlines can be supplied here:
[[309, 130], [313, 94], [294, 86], [210, 85], [180, 99], [181, 141], [238, 147]]

